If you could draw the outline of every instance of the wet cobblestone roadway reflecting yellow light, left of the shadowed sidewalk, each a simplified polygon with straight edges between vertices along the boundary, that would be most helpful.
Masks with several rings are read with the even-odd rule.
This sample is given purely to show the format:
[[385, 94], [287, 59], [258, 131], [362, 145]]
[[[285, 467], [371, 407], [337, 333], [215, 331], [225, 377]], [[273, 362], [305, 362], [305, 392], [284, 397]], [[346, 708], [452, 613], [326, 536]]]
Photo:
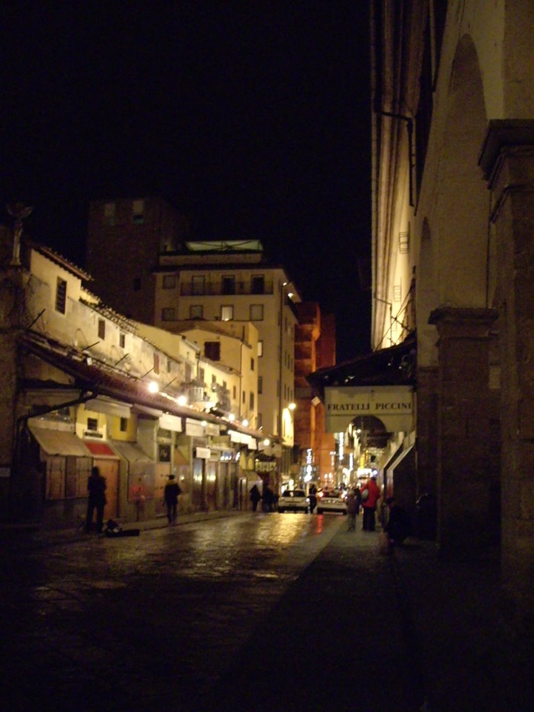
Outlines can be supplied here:
[[2, 556], [12, 710], [195, 709], [339, 518], [234, 515]]

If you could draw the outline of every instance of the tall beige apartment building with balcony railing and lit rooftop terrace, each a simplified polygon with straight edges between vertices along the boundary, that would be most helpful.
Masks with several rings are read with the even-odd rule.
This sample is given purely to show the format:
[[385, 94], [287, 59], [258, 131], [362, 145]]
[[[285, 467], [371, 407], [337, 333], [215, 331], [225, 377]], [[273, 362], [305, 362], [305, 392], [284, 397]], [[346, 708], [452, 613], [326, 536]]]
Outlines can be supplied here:
[[[273, 435], [281, 446], [278, 472], [283, 479], [293, 461], [295, 401], [295, 304], [300, 296], [282, 266], [266, 261], [258, 241], [187, 242], [161, 253], [157, 268], [155, 324], [169, 331], [180, 323], [206, 320], [258, 330], [256, 354], [258, 405], [251, 425]], [[241, 396], [241, 419], [249, 419], [248, 396]]]

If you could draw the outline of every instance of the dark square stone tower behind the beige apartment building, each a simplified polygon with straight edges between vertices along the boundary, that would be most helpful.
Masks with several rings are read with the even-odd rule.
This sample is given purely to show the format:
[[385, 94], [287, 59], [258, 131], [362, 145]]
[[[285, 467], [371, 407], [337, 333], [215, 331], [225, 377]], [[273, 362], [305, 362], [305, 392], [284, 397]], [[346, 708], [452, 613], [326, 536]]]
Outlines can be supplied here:
[[91, 202], [86, 267], [95, 293], [127, 318], [153, 323], [157, 256], [188, 234], [187, 219], [159, 197]]

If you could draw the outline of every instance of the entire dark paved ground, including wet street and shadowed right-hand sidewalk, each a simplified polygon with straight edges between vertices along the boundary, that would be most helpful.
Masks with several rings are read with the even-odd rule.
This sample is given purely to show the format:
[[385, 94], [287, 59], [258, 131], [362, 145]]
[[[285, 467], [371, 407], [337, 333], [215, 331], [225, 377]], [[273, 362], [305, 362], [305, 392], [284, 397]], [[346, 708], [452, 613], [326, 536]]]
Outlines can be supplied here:
[[337, 515], [138, 538], [0, 532], [4, 708], [530, 712], [495, 560], [378, 553]]

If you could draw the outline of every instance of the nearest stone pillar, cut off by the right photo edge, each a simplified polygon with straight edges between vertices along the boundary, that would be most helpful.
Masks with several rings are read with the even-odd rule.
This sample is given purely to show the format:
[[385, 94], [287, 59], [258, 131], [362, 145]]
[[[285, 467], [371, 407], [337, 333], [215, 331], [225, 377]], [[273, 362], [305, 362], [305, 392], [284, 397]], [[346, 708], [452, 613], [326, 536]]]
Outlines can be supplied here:
[[534, 632], [534, 120], [491, 121], [480, 165], [497, 238], [503, 585]]

